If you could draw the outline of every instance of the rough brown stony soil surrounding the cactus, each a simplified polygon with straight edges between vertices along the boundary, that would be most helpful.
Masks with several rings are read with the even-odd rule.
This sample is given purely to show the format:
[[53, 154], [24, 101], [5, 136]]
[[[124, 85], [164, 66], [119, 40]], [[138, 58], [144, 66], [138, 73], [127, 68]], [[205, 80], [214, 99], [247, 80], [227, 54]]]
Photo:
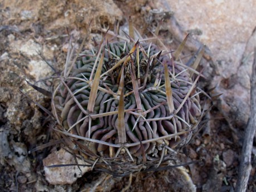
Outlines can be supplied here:
[[[79, 33], [81, 36], [87, 33], [90, 22], [90, 34], [96, 40], [101, 39], [104, 29], [113, 29], [116, 21], [122, 29], [127, 28], [129, 16], [145, 36], [150, 36], [148, 29], [154, 31], [157, 22], [164, 19], [160, 36], [172, 50], [180, 43], [180, 36], [185, 37], [186, 32], [175, 22], [173, 14], [153, 10], [156, 4], [151, 1], [107, 0], [100, 5], [94, 2], [26, 0], [0, 3], [0, 191], [192, 191], [181, 185], [184, 178], [176, 169], [137, 173], [130, 178], [114, 178], [89, 171], [75, 183], [62, 185], [46, 180], [43, 159], [56, 147], [35, 148], [49, 142], [54, 134], [49, 127], [53, 120], [36, 103], [50, 109], [51, 99], [34, 90], [25, 80], [38, 81], [37, 86], [51, 91], [53, 82], [47, 77], [54, 72], [46, 61], [60, 71], [66, 60], [70, 36], [73, 46], [78, 46], [82, 38], [77, 44], [75, 39]], [[194, 46], [190, 46], [192, 42]], [[86, 46], [90, 43], [93, 41]], [[189, 43], [185, 55], [195, 53], [201, 46], [196, 35]], [[217, 64], [212, 57], [206, 47], [200, 63], [200, 67], [205, 68], [206, 81], [200, 82], [205, 90], [212, 88], [211, 80], [216, 75]], [[39, 81], [42, 79], [45, 81]], [[232, 79], [221, 83], [230, 84], [230, 81]], [[185, 166], [196, 191], [232, 191], [237, 183], [243, 142], [243, 129], [237, 126], [245, 127], [246, 122], [233, 124], [235, 114], [228, 114], [227, 109], [221, 108], [221, 102], [221, 98], [214, 101], [205, 124], [179, 155], [181, 163], [196, 161]], [[253, 149], [248, 191], [256, 191], [255, 144]]]

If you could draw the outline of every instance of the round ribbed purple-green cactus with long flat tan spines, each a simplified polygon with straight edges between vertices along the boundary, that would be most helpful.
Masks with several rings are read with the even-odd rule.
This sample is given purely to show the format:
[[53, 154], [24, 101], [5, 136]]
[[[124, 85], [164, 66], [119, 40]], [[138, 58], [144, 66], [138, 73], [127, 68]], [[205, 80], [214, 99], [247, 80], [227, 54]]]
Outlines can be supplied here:
[[67, 146], [94, 168], [120, 175], [168, 165], [201, 115], [193, 68], [203, 52], [187, 67], [177, 61], [186, 39], [171, 53], [135, 42], [131, 23], [129, 35], [104, 39], [67, 62], [52, 96]]

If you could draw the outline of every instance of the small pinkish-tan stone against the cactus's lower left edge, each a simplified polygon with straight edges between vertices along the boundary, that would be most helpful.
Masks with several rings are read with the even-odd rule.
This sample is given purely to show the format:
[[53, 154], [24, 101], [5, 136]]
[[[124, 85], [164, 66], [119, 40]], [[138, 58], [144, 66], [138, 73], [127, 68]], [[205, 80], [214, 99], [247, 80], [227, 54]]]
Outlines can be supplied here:
[[[85, 161], [77, 159], [78, 164], [86, 165]], [[80, 166], [81, 171], [77, 166], [60, 166], [57, 168], [47, 168], [50, 165], [62, 165], [62, 164], [76, 164], [73, 155], [64, 149], [53, 151], [45, 159], [43, 159], [43, 165], [45, 170], [46, 180], [52, 185], [65, 185], [72, 184], [78, 178], [81, 178], [83, 174], [90, 171], [88, 166]]]

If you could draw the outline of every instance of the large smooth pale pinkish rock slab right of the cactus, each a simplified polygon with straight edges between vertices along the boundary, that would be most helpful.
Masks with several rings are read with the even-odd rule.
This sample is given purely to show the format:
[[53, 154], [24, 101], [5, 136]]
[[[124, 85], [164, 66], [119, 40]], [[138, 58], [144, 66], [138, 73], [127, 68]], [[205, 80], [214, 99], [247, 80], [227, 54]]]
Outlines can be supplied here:
[[163, 2], [165, 8], [174, 11], [183, 29], [202, 32], [193, 36], [205, 43], [214, 55], [216, 76], [210, 86], [216, 86], [216, 94], [223, 93], [218, 108], [226, 117], [234, 119], [233, 126], [245, 127], [249, 117], [252, 52], [256, 44], [253, 31], [256, 14], [252, 9], [255, 1]]

